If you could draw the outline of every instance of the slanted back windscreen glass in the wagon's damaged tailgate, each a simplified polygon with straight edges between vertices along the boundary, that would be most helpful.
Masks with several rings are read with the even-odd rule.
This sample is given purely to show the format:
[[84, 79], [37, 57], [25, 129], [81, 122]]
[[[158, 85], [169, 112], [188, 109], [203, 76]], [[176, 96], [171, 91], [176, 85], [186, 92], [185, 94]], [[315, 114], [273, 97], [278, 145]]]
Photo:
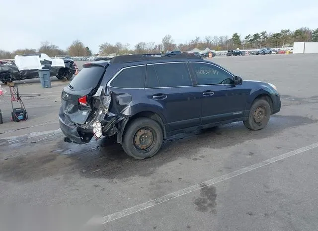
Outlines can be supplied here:
[[94, 65], [82, 68], [71, 81], [70, 88], [76, 91], [95, 88], [103, 75], [104, 70], [104, 67]]

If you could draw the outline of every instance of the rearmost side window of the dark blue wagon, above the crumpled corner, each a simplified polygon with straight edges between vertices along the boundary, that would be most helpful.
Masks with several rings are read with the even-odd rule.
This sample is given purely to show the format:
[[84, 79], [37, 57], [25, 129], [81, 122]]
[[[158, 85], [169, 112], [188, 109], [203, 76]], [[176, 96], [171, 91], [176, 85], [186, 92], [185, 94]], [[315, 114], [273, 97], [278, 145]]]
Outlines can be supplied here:
[[112, 80], [110, 86], [118, 88], [144, 88], [146, 75], [145, 66], [135, 66], [123, 69]]

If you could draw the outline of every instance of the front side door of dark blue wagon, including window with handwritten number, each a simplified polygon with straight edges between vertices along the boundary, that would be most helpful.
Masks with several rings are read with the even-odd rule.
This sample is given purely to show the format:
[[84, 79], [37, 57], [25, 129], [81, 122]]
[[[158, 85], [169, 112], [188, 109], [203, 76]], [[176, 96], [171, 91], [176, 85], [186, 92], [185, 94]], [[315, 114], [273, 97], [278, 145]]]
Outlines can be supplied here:
[[243, 117], [250, 89], [213, 63], [191, 62], [191, 67], [201, 92], [202, 124]]

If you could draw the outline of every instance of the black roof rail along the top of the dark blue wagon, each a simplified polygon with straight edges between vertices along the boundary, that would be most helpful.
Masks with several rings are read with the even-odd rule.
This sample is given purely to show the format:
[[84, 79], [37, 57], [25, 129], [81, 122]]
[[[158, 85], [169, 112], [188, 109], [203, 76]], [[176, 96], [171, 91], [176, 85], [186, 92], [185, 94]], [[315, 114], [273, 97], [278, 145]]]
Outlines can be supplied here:
[[116, 56], [110, 60], [110, 63], [120, 62], [135, 62], [135, 61], [147, 61], [147, 60], [160, 60], [160, 59], [176, 59], [176, 58], [195, 58], [202, 59], [192, 54], [143, 54], [143, 55], [126, 55]]

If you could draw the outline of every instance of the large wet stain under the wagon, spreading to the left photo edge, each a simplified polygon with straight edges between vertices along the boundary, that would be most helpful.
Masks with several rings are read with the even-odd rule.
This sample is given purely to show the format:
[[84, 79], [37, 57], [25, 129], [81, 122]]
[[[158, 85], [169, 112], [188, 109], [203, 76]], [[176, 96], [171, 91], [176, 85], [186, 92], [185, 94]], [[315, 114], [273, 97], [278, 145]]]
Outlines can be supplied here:
[[[241, 122], [206, 129], [192, 134], [183, 134], [169, 139], [161, 151], [151, 159], [134, 160], [125, 154], [120, 144], [113, 139], [92, 140], [85, 145], [65, 143], [63, 136], [48, 137], [30, 144], [23, 137], [18, 140], [0, 139], [0, 178], [4, 181], [33, 181], [56, 174], [80, 174], [86, 178], [105, 178], [110, 181], [129, 180], [133, 176], [150, 176], [160, 166], [177, 159], [199, 162], [197, 150], [221, 149], [241, 143], [245, 139], [258, 140], [276, 135], [290, 127], [316, 123], [317, 120], [303, 116], [271, 116], [263, 130], [247, 130]], [[217, 135], [218, 133], [222, 134]], [[214, 142], [211, 142], [213, 138]], [[231, 142], [228, 142], [228, 140]], [[19, 147], [19, 148], [17, 148]], [[21, 151], [21, 147], [23, 151]], [[23, 154], [14, 154], [15, 152]], [[12, 154], [12, 158], [4, 160]], [[249, 153], [252, 156], [252, 153]], [[96, 170], [99, 170], [96, 172]], [[204, 202], [204, 201], [203, 201]]]

